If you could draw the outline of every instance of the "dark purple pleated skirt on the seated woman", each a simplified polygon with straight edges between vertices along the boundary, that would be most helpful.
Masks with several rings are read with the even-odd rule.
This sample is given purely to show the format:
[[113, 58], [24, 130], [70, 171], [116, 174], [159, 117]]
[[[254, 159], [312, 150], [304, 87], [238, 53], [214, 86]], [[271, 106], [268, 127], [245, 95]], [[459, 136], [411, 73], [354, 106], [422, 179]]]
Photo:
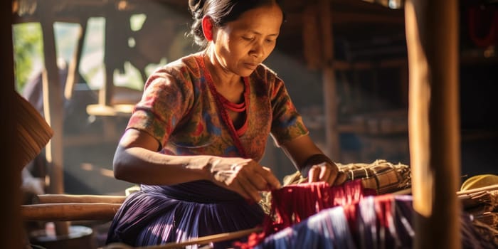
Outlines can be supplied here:
[[[233, 191], [211, 181], [174, 186], [142, 185], [124, 201], [113, 219], [107, 243], [160, 245], [254, 228], [265, 213]], [[216, 243], [230, 247], [233, 241]], [[194, 246], [193, 248], [196, 248]]]

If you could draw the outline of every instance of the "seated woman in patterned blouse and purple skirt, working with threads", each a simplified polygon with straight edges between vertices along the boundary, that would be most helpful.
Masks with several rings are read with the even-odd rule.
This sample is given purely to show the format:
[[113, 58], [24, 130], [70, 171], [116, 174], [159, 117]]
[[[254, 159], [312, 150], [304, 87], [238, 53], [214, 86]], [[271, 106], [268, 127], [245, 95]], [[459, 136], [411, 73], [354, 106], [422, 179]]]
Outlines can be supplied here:
[[156, 245], [260, 225], [260, 191], [280, 188], [258, 163], [269, 134], [309, 181], [345, 179], [309, 138], [282, 80], [261, 64], [284, 19], [277, 1], [189, 6], [191, 36], [204, 49], [147, 80], [114, 159], [115, 177], [141, 191], [123, 203], [108, 243]]

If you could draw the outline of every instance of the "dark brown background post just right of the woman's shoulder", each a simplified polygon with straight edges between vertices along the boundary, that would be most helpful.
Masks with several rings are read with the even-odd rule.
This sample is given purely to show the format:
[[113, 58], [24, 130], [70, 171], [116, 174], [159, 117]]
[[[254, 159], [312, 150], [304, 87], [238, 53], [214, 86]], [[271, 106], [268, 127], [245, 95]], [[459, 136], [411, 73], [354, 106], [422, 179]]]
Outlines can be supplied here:
[[319, 23], [322, 33], [322, 50], [324, 68], [322, 69], [324, 88], [325, 137], [327, 151], [333, 161], [340, 161], [339, 130], [337, 125], [337, 86], [336, 75], [332, 63], [334, 61], [334, 39], [332, 36], [332, 11], [329, 0], [319, 0]]

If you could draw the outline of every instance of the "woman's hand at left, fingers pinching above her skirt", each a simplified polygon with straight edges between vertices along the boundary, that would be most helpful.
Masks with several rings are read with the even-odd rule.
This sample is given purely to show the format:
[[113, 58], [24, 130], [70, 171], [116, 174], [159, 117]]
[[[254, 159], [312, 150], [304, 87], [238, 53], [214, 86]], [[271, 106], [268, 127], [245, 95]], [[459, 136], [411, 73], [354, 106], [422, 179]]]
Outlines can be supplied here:
[[211, 181], [235, 191], [246, 199], [261, 200], [260, 191], [280, 189], [280, 181], [271, 169], [252, 159], [214, 157], [210, 162]]

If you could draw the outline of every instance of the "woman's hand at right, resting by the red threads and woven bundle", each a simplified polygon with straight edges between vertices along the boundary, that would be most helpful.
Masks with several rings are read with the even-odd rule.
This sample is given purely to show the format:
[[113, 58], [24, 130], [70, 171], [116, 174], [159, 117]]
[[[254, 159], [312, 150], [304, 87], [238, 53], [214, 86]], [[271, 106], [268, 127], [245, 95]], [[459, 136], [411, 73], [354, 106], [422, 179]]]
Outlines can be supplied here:
[[308, 182], [325, 181], [328, 184], [339, 185], [346, 181], [346, 174], [339, 171], [335, 164], [322, 162], [321, 164], [313, 165], [308, 171]]

